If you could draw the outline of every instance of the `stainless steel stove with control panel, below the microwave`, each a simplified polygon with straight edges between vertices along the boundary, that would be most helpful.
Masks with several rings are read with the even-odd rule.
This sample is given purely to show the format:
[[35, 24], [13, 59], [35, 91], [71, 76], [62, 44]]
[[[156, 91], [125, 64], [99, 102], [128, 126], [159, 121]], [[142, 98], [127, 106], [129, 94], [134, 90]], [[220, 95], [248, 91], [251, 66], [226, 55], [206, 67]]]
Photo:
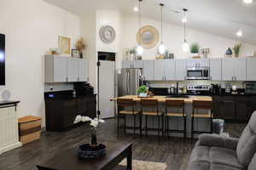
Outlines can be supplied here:
[[187, 88], [188, 94], [209, 95], [211, 94], [210, 85], [189, 85]]

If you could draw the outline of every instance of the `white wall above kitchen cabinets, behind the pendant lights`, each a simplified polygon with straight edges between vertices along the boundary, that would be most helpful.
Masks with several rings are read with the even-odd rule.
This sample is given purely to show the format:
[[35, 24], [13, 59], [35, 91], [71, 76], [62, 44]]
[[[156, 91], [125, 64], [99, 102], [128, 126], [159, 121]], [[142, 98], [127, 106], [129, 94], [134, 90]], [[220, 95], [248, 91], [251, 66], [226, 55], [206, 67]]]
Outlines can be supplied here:
[[[154, 26], [160, 32], [160, 23], [158, 20], [151, 20], [143, 18], [143, 26]], [[188, 23], [189, 25], [189, 23]], [[138, 31], [138, 19], [136, 15], [125, 14], [123, 16], [123, 48], [133, 48], [137, 46], [137, 31]], [[163, 26], [164, 43], [166, 48], [170, 52], [175, 54], [175, 58], [186, 58], [189, 54], [183, 53], [183, 27], [174, 26], [164, 23]], [[236, 35], [234, 35], [236, 36]], [[231, 48], [237, 43], [235, 40], [231, 40], [224, 37], [218, 37], [215, 35], [207, 34], [201, 31], [188, 30], [187, 40], [189, 43], [198, 42], [201, 48], [210, 48], [210, 57], [223, 57], [227, 48]], [[157, 55], [157, 47], [151, 49], [145, 49], [143, 59], [155, 59]], [[249, 44], [243, 44], [241, 48], [241, 56], [246, 56], [247, 53], [253, 53], [256, 47]]]

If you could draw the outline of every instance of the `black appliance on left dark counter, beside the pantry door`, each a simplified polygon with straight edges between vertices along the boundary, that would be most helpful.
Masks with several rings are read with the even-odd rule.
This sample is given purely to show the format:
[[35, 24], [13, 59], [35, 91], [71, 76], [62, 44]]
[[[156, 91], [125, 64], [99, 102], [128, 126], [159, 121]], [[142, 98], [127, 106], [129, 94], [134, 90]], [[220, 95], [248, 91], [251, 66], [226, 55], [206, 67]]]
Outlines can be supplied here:
[[74, 82], [73, 88], [76, 96], [90, 96], [94, 94], [93, 87], [87, 82]]

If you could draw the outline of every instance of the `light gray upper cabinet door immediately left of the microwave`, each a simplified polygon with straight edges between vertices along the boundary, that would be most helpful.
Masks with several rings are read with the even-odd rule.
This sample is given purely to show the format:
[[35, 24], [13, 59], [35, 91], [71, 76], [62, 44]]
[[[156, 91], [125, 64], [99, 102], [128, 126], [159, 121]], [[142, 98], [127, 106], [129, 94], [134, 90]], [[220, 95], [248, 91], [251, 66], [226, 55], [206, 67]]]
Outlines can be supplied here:
[[186, 59], [175, 59], [175, 80], [184, 81], [186, 79]]

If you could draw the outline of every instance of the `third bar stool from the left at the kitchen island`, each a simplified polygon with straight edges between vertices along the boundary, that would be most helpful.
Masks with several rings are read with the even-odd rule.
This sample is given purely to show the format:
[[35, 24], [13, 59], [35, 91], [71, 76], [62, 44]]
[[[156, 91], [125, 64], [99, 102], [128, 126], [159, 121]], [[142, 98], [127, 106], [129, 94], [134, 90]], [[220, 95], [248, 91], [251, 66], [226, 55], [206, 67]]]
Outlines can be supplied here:
[[[187, 138], [187, 116], [184, 112], [185, 102], [183, 99], [166, 99], [166, 133], [183, 133], [184, 139]], [[171, 112], [168, 109], [177, 109], [177, 112]], [[182, 110], [182, 112], [179, 112]], [[169, 117], [183, 117], [183, 130], [169, 129]]]

